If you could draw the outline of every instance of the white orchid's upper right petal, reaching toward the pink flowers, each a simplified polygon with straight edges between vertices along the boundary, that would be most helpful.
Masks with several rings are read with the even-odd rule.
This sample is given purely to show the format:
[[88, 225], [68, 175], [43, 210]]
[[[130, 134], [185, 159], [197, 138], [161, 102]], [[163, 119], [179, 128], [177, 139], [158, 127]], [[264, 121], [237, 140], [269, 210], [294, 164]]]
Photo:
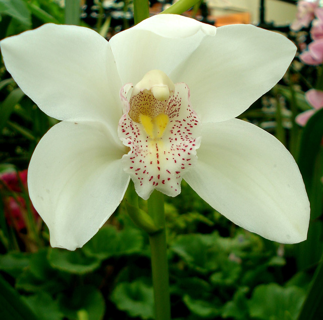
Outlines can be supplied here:
[[204, 37], [170, 78], [189, 86], [202, 122], [224, 121], [270, 90], [295, 52], [296, 46], [281, 34], [251, 25], [223, 26], [215, 37]]

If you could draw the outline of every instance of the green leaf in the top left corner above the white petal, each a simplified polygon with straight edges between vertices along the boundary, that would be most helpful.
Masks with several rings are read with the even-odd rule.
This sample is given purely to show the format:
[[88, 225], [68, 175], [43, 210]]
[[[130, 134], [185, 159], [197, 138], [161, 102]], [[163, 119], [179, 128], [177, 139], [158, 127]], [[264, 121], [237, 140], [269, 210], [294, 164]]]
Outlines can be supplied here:
[[26, 27], [31, 26], [31, 15], [22, 0], [0, 0], [0, 15], [7, 15]]

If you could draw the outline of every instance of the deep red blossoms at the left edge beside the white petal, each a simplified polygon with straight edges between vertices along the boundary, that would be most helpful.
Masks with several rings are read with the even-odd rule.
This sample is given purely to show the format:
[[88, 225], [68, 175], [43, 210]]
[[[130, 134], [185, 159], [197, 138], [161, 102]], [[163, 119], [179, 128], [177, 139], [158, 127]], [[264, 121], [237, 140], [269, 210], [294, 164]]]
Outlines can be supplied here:
[[[1, 188], [5, 188], [13, 195], [5, 196], [3, 199], [6, 220], [9, 225], [20, 232], [26, 227], [27, 206], [23, 193], [27, 190], [27, 170], [0, 174], [0, 180], [2, 182]], [[38, 213], [31, 202], [29, 205], [34, 218], [37, 220], [39, 218]]]

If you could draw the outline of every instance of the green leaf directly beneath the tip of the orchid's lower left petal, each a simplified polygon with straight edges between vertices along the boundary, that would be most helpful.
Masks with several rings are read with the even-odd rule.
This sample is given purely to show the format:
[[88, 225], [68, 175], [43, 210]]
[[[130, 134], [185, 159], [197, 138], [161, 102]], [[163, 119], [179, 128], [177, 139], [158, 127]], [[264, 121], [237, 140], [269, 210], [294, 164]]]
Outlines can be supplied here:
[[79, 275], [92, 272], [100, 266], [99, 259], [87, 257], [82, 249], [69, 251], [52, 248], [49, 250], [48, 261], [52, 268]]

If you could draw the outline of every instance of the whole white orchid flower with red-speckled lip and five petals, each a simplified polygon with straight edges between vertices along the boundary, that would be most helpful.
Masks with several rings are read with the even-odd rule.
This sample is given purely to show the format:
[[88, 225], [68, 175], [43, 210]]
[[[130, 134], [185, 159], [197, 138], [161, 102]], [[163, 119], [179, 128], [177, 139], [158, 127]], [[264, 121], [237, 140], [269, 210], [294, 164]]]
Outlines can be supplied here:
[[235, 117], [284, 75], [296, 48], [251, 25], [217, 28], [157, 15], [108, 42], [47, 24], [1, 42], [8, 71], [62, 122], [31, 158], [31, 200], [52, 246], [86, 243], [122, 201], [187, 183], [237, 225], [278, 242], [306, 239], [309, 203], [285, 147]]

